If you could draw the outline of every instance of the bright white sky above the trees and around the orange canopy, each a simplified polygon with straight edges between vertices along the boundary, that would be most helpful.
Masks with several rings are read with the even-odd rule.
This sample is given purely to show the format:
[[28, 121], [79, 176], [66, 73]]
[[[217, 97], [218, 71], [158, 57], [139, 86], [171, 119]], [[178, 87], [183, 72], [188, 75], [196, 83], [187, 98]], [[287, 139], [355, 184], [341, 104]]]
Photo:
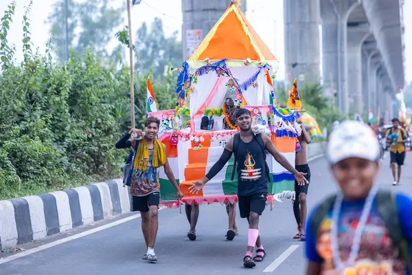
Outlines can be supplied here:
[[[0, 17], [12, 0], [0, 0]], [[118, 0], [122, 3], [122, 0]], [[260, 34], [266, 45], [272, 50], [276, 58], [280, 61], [278, 79], [284, 78], [284, 19], [283, 19], [284, 0], [249, 0], [247, 2], [247, 18]], [[17, 59], [22, 59], [21, 50], [23, 31], [21, 21], [25, 6], [30, 0], [18, 0], [14, 22], [10, 27], [8, 36], [9, 43], [13, 43], [17, 48]], [[45, 23], [49, 12], [52, 10], [52, 3], [55, 0], [34, 0], [30, 14], [32, 41], [41, 52], [45, 52], [45, 44], [49, 39], [49, 25]], [[229, 1], [228, 1], [229, 2]], [[404, 23], [405, 23], [405, 56], [406, 56], [406, 80], [412, 80], [412, 1], [405, 1], [404, 4]], [[132, 9], [133, 31], [139, 28], [144, 21], [150, 23], [155, 17], [163, 19], [163, 26], [166, 34], [172, 34], [174, 30], [181, 30], [183, 23], [181, 13], [181, 0], [143, 0], [140, 5], [135, 5]], [[127, 13], [124, 12], [124, 25], [127, 24]], [[114, 35], [114, 34], [113, 34]], [[180, 36], [179, 36], [180, 37]]]

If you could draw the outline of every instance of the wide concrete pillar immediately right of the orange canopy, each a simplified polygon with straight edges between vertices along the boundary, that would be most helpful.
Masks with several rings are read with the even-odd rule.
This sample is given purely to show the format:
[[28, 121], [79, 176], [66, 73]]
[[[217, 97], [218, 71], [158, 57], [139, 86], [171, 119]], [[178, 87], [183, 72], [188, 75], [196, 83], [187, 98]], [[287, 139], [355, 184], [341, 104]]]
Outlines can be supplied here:
[[286, 73], [292, 78], [304, 74], [306, 81], [319, 81], [319, 0], [284, 0], [284, 24]]

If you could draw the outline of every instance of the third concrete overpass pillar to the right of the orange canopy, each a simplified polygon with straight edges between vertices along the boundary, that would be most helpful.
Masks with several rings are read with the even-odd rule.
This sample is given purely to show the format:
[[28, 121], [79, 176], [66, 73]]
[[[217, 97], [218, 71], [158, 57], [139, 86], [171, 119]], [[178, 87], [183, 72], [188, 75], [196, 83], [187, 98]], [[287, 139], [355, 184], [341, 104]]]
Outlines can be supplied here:
[[365, 39], [371, 34], [369, 24], [347, 27], [347, 54], [345, 63], [347, 64], [347, 85], [349, 91], [350, 112], [357, 111], [363, 113], [362, 96], [362, 45]]

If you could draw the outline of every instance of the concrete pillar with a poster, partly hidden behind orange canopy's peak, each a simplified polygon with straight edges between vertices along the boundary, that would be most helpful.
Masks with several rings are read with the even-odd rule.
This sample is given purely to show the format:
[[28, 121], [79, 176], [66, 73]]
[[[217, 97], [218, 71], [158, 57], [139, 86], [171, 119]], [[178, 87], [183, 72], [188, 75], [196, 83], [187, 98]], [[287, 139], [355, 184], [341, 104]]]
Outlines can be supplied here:
[[[182, 0], [183, 26], [183, 60], [189, 58], [191, 52], [188, 49], [186, 34], [190, 30], [201, 30], [204, 39], [207, 33], [220, 19], [231, 0]], [[240, 9], [245, 12], [247, 0], [242, 0]], [[199, 41], [200, 42], [200, 41]]]

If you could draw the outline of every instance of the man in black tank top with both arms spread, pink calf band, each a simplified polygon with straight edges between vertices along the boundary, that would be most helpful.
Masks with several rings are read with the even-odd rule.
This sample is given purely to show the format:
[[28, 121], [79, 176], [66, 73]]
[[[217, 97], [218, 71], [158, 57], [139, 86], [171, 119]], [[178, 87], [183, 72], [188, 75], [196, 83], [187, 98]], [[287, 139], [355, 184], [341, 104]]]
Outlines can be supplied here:
[[[304, 184], [304, 173], [299, 173], [288, 160], [277, 151], [271, 139], [266, 134], [255, 135], [251, 129], [251, 112], [247, 109], [239, 109], [236, 112], [236, 124], [240, 133], [234, 135], [226, 144], [220, 159], [209, 170], [209, 173], [201, 180], [194, 181], [190, 186], [191, 192], [199, 192], [203, 186], [212, 179], [235, 156], [238, 165], [238, 201], [240, 217], [247, 218], [249, 222], [249, 234], [247, 253], [243, 259], [243, 265], [247, 268], [255, 267], [255, 262], [263, 261], [266, 256], [262, 241], [260, 240], [259, 219], [264, 208], [268, 194], [269, 170], [266, 163], [266, 150], [275, 157], [284, 168], [295, 175], [299, 184]], [[234, 174], [233, 170], [233, 174]], [[233, 180], [233, 175], [232, 175]], [[252, 259], [253, 249], [256, 247], [256, 256]]]

